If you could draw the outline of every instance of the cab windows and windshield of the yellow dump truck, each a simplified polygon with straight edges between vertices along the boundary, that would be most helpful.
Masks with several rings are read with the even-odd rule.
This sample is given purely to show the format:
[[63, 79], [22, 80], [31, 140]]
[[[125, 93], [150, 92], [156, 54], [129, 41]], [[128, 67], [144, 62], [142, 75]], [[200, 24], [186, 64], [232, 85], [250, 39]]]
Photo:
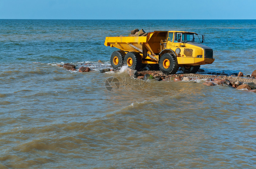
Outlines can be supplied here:
[[205, 35], [194, 33], [175, 33], [174, 42], [196, 42], [203, 43], [205, 41]]

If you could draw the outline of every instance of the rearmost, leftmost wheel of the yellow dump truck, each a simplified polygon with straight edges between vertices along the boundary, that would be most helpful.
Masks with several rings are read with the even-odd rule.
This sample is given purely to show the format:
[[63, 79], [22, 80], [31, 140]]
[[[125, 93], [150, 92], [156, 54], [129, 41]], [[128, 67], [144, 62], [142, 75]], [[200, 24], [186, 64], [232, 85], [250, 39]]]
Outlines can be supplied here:
[[119, 69], [123, 66], [125, 52], [123, 50], [116, 50], [110, 57], [110, 63], [113, 69]]

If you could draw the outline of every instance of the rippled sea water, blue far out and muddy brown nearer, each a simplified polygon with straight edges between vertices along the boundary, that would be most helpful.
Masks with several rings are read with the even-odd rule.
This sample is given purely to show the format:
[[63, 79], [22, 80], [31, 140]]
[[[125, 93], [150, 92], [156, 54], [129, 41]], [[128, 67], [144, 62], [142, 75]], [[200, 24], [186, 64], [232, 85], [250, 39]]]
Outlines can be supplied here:
[[256, 20], [0, 20], [0, 168], [256, 168], [255, 93], [99, 72], [137, 28], [205, 34], [205, 72], [256, 69]]

